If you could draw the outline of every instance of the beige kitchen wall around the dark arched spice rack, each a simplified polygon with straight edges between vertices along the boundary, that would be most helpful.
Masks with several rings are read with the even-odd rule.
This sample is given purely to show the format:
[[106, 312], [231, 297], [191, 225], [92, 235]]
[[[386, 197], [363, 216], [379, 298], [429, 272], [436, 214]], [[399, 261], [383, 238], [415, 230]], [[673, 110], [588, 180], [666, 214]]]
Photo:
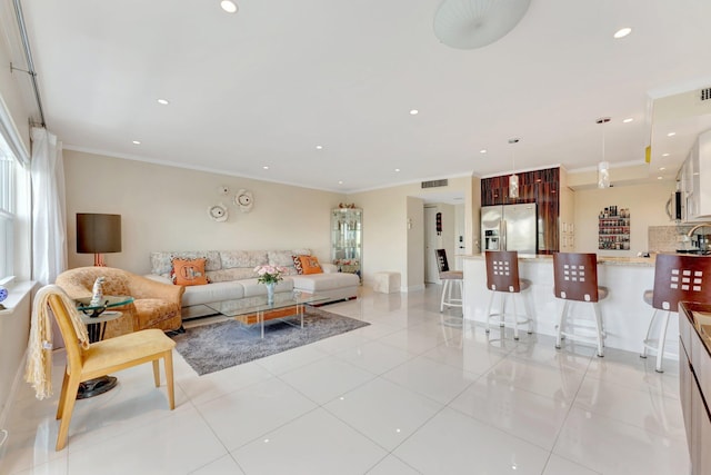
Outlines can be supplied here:
[[[648, 250], [648, 227], [670, 226], [664, 209], [674, 190], [673, 181], [650, 185], [630, 185], [607, 189], [577, 190], [575, 207], [575, 251], [598, 253], [603, 256], [635, 256]], [[630, 250], [598, 249], [598, 215], [601, 209], [614, 205], [630, 209]]]

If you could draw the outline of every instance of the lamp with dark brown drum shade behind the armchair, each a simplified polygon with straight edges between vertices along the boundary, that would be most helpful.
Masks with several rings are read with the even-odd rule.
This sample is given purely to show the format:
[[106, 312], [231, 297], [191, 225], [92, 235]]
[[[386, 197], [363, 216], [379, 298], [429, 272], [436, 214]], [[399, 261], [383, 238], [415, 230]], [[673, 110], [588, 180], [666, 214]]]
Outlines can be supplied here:
[[77, 253], [93, 254], [93, 265], [106, 267], [103, 253], [121, 251], [121, 215], [77, 214]]

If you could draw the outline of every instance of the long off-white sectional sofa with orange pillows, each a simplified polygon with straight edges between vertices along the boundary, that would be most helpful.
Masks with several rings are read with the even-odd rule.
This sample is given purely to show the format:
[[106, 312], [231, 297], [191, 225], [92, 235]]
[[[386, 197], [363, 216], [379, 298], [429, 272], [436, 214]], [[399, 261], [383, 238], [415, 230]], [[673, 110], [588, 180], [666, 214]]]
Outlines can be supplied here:
[[257, 281], [254, 268], [262, 265], [284, 267], [284, 279], [276, 291], [301, 291], [328, 297], [327, 301], [358, 296], [360, 278], [339, 273], [332, 264], [321, 263], [322, 274], [299, 275], [293, 264], [296, 255], [311, 255], [310, 249], [289, 250], [193, 250], [151, 253], [151, 274], [147, 277], [172, 283], [173, 258], [206, 258], [206, 274], [210, 284], [187, 286], [182, 296], [182, 318], [198, 318], [214, 314], [204, 304], [267, 295], [267, 287]]

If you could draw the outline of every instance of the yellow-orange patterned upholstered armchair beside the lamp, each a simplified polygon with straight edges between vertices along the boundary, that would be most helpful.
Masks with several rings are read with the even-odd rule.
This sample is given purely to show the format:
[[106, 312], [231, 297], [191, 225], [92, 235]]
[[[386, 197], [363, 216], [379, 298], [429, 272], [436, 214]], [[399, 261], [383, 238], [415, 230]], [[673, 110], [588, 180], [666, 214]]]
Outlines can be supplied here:
[[123, 335], [146, 328], [164, 331], [182, 327], [180, 315], [183, 286], [163, 284], [111, 267], [78, 267], [57, 276], [56, 284], [71, 298], [91, 297], [93, 283], [104, 277], [104, 295], [129, 295], [133, 303], [111, 308], [123, 315], [109, 321], [104, 338]]

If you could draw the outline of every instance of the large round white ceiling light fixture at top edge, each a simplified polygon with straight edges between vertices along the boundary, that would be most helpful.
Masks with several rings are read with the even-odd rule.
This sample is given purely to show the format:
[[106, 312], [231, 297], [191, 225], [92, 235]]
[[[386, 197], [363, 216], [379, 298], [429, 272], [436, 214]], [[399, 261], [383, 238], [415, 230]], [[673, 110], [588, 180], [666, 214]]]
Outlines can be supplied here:
[[474, 49], [503, 38], [531, 0], [444, 0], [434, 13], [434, 36], [452, 48]]

